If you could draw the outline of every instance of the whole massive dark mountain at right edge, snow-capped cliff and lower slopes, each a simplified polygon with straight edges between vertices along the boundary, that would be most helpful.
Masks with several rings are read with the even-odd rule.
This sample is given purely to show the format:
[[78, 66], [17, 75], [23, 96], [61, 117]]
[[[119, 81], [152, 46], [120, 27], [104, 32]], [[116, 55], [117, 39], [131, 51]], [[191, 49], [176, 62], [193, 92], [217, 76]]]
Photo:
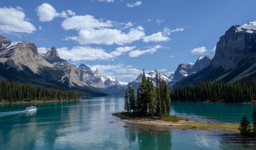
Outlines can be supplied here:
[[[210, 64], [200, 72], [187, 77], [194, 80], [231, 82], [251, 80], [256, 75], [256, 21], [231, 26], [217, 42]], [[184, 84], [185, 80], [179, 84]]]

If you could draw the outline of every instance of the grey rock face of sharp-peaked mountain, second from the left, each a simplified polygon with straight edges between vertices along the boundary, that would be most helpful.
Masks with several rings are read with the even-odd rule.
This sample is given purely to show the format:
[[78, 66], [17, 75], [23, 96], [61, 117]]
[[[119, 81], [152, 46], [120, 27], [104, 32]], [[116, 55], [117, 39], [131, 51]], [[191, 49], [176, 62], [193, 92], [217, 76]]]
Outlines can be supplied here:
[[63, 70], [65, 72], [65, 76], [70, 80], [70, 86], [74, 86], [73, 83], [78, 86], [87, 86], [87, 84], [83, 82], [83, 73], [75, 65], [69, 64], [66, 60], [61, 59], [56, 47], [53, 46], [51, 50], [40, 53], [40, 56], [53, 66]]

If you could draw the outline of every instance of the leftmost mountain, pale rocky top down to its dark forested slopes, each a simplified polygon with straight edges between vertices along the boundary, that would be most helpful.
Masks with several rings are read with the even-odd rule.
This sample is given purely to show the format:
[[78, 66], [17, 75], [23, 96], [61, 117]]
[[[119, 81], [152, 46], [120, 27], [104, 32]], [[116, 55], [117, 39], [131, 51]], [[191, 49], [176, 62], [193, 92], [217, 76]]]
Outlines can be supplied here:
[[[53, 53], [54, 55], [54, 53]], [[58, 56], [56, 53], [55, 56]], [[107, 95], [89, 86], [70, 86], [72, 78], [46, 61], [37, 51], [34, 43], [13, 42], [0, 35], [0, 79], [11, 82], [29, 83], [43, 87], [78, 90], [81, 95]]]

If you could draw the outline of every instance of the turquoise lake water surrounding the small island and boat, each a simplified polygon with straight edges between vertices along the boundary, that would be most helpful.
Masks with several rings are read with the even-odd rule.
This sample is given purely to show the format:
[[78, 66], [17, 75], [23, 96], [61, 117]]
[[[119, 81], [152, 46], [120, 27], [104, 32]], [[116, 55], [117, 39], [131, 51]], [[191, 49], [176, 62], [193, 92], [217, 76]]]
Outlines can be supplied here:
[[[36, 106], [37, 111], [25, 112]], [[163, 130], [122, 122], [123, 96], [80, 101], [0, 104], [0, 149], [255, 149], [255, 141], [220, 131]], [[172, 102], [172, 114], [199, 121], [240, 122], [251, 104]], [[204, 118], [204, 119], [202, 119]], [[110, 123], [114, 122], [114, 123]], [[128, 125], [128, 128], [123, 127]]]

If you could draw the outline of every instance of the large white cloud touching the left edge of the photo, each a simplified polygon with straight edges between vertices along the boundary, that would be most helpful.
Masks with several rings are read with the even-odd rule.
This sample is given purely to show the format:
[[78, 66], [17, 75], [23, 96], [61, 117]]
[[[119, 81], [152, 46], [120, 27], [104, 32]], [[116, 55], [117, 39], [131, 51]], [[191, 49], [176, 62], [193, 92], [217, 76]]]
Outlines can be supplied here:
[[36, 27], [28, 22], [21, 7], [0, 8], [0, 32], [18, 35], [17, 33], [32, 33]]

